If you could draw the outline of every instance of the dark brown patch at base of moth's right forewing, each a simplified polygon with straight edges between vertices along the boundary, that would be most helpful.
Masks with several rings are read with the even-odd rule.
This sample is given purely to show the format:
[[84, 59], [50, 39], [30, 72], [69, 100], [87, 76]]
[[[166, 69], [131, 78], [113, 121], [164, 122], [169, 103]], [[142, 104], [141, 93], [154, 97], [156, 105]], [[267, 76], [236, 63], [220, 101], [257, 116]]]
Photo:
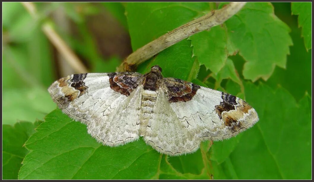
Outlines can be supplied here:
[[200, 88], [194, 83], [176, 78], [164, 78], [163, 81], [168, 89], [169, 102], [190, 101]]

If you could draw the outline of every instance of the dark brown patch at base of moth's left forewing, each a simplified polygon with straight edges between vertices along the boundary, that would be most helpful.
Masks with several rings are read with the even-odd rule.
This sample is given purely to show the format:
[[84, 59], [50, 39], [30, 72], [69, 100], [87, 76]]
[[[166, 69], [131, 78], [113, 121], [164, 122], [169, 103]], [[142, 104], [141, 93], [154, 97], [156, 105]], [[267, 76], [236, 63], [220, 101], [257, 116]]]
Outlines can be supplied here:
[[129, 96], [132, 91], [143, 81], [143, 75], [140, 73], [108, 73], [108, 76], [110, 88], [126, 96]]

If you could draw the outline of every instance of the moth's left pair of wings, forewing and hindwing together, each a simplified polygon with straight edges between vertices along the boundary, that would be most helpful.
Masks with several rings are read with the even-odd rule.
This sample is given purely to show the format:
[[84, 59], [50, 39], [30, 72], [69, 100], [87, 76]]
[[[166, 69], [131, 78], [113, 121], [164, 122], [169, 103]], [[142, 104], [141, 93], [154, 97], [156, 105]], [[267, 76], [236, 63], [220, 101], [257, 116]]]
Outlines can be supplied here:
[[[121, 88], [115, 80], [120, 85], [124, 81], [136, 84]], [[139, 137], [142, 86], [138, 85], [142, 80], [139, 73], [74, 74], [55, 81], [48, 91], [62, 112], [86, 124], [98, 142], [117, 146]]]

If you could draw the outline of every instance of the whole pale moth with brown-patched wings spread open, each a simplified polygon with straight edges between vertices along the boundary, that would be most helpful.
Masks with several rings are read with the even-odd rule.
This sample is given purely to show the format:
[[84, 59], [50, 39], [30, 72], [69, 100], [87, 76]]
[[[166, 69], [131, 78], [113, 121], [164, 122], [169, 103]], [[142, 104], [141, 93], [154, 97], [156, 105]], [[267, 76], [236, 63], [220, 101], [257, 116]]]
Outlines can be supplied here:
[[143, 137], [170, 156], [195, 152], [203, 140], [223, 140], [259, 119], [245, 101], [176, 78], [155, 65], [136, 72], [74, 74], [48, 89], [62, 112], [87, 125], [88, 133], [111, 147]]

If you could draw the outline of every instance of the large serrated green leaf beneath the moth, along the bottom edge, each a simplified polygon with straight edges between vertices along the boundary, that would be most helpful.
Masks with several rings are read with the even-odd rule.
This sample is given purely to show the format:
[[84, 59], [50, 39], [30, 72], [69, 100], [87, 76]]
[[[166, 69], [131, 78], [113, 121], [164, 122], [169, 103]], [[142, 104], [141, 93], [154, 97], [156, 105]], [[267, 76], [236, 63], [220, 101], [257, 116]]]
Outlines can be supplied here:
[[168, 162], [142, 138], [119, 147], [103, 146], [87, 133], [86, 125], [59, 109], [48, 114], [36, 131], [25, 143], [30, 153], [19, 179], [209, 178], [200, 165], [200, 150]]

